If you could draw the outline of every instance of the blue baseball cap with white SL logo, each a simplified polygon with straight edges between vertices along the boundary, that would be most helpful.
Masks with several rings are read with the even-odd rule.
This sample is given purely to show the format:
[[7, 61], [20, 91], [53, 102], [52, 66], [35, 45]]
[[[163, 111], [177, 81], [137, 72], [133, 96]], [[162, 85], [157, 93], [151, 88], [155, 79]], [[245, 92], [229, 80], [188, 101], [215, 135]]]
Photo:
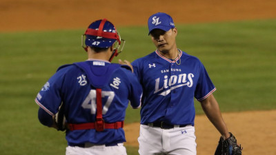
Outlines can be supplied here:
[[157, 28], [167, 32], [171, 28], [175, 28], [175, 23], [173, 23], [170, 15], [164, 12], [158, 12], [156, 14], [152, 14], [148, 18], [148, 35], [152, 30]]

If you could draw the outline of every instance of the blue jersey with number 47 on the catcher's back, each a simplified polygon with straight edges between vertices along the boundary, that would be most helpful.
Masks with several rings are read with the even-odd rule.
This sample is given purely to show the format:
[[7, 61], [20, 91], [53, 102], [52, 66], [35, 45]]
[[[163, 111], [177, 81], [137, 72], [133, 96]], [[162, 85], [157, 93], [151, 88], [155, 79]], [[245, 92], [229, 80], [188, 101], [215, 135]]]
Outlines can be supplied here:
[[[128, 102], [138, 108], [142, 87], [135, 74], [119, 64], [90, 60], [64, 65], [43, 86], [35, 101], [48, 114], [65, 105], [67, 123], [95, 122], [97, 105], [95, 89], [101, 88], [102, 114], [106, 123], [124, 121]], [[110, 144], [126, 141], [124, 130], [67, 130], [68, 145], [82, 143]]]

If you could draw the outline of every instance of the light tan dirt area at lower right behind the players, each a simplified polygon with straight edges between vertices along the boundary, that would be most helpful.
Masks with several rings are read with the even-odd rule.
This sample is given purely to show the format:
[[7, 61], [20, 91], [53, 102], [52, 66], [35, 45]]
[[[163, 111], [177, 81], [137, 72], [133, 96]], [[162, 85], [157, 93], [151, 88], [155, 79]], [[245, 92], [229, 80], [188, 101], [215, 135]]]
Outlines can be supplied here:
[[[259, 112], [235, 112], [222, 114], [228, 130], [238, 138], [244, 147], [244, 155], [275, 155], [276, 148], [276, 110]], [[137, 146], [139, 123], [124, 127], [126, 145]], [[219, 141], [219, 132], [205, 115], [195, 116], [195, 134], [197, 135], [197, 155], [215, 153]]]

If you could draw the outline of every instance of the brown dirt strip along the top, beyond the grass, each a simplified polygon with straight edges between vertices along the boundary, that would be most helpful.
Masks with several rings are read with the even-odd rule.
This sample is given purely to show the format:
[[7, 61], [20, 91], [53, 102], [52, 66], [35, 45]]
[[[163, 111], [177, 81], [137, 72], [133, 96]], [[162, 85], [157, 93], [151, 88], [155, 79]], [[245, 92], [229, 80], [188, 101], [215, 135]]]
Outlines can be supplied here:
[[155, 12], [175, 23], [276, 18], [275, 0], [1, 0], [0, 32], [86, 28], [107, 18], [115, 25], [146, 25]]

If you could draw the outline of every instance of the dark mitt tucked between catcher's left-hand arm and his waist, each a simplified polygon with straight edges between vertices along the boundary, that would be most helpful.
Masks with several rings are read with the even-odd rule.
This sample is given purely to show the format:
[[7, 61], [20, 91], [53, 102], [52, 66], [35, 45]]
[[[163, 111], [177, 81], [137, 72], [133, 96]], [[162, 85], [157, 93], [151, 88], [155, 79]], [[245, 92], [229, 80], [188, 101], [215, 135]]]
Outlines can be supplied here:
[[66, 118], [64, 115], [64, 104], [61, 103], [59, 106], [59, 112], [55, 114], [55, 123], [57, 125], [58, 131], [65, 131], [66, 130]]

